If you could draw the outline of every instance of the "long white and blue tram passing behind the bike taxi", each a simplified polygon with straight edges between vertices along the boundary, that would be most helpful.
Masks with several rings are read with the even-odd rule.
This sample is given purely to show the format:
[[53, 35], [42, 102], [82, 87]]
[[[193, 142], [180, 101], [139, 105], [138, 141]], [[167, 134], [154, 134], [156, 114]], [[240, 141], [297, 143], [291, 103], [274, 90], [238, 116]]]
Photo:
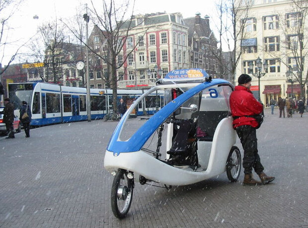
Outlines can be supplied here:
[[[117, 101], [121, 98], [129, 105], [143, 94], [142, 90], [118, 90]], [[26, 101], [32, 111], [32, 126], [87, 119], [86, 89], [60, 86], [51, 83], [10, 83], [8, 97], [15, 109]], [[158, 94], [159, 107], [163, 106], [163, 94]], [[112, 109], [112, 89], [90, 89], [91, 119], [101, 119]], [[154, 114], [156, 95], [138, 105], [136, 115]], [[145, 107], [143, 107], [145, 106]]]

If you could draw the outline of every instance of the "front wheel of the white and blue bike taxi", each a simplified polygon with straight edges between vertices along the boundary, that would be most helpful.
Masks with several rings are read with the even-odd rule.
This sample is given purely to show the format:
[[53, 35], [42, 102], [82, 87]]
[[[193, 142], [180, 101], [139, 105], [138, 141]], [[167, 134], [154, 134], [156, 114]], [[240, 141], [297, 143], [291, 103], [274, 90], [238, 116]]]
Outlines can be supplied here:
[[134, 179], [129, 179], [127, 174], [126, 170], [118, 169], [111, 187], [111, 209], [119, 219], [126, 216], [133, 199]]

